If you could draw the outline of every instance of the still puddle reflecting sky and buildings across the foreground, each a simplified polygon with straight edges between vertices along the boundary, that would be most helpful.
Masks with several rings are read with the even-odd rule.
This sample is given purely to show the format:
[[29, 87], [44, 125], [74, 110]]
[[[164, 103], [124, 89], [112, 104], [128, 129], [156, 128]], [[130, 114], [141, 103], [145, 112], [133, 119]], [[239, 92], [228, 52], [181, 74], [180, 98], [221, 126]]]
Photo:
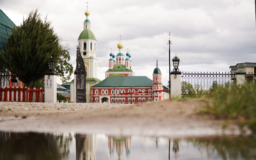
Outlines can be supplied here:
[[255, 137], [0, 132], [0, 160], [256, 159]]

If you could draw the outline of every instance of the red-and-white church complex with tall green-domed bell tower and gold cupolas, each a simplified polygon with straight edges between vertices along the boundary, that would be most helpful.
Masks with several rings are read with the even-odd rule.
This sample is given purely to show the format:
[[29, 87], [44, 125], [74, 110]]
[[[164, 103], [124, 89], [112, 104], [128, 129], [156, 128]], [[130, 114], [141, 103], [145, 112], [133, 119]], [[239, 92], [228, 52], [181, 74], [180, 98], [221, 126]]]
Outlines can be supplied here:
[[[78, 37], [78, 46], [84, 59], [86, 69], [86, 102], [90, 103], [125, 103], [138, 104], [147, 101], [158, 101], [169, 99], [169, 92], [150, 92], [169, 89], [162, 84], [161, 70], [157, 66], [153, 71], [153, 80], [147, 76], [135, 76], [132, 71], [131, 54], [123, 53], [124, 44], [117, 44], [118, 54], [110, 52], [108, 60], [108, 70], [105, 72], [104, 80], [100, 81], [98, 76], [98, 60], [96, 59], [97, 39], [91, 31], [89, 20], [90, 12], [88, 6], [85, 12], [84, 30]], [[70, 83], [70, 100], [74, 100], [74, 81]], [[125, 92], [142, 92], [134, 94], [120, 94]]]

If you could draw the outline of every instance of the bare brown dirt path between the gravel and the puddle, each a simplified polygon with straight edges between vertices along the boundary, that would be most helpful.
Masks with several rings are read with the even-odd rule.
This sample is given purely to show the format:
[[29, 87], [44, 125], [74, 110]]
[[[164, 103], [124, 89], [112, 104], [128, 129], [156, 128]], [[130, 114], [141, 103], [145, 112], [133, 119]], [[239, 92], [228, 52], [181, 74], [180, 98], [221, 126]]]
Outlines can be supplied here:
[[[213, 117], [207, 115], [197, 115], [196, 108], [204, 104], [205, 100], [166, 100], [121, 108], [90, 110], [59, 110], [54, 107], [48, 110], [33, 108], [17, 110], [8, 106], [7, 108], [11, 110], [5, 107], [5, 110], [2, 109], [0, 112], [0, 130], [97, 132], [173, 138], [241, 133], [235, 125], [230, 125], [226, 130], [222, 130], [222, 121], [214, 120]], [[15, 117], [16, 114], [18, 117]], [[22, 116], [26, 116], [26, 118], [22, 119]]]

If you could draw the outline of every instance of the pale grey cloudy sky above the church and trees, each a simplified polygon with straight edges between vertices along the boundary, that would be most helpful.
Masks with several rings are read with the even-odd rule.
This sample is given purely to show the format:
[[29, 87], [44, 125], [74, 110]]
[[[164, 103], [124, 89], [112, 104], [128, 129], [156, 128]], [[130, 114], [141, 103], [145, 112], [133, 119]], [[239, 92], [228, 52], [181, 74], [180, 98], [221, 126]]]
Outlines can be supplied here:
[[[38, 8], [62, 44], [70, 45], [75, 67], [76, 45], [83, 31], [84, 0], [1, 0], [1, 10], [16, 24]], [[98, 78], [105, 79], [110, 48], [117, 53], [122, 34], [123, 53], [130, 48], [135, 76], [148, 76], [161, 69], [167, 85], [171, 31], [171, 58], [177, 54], [181, 71], [229, 71], [230, 65], [256, 62], [254, 0], [91, 0], [89, 20], [97, 38]]]

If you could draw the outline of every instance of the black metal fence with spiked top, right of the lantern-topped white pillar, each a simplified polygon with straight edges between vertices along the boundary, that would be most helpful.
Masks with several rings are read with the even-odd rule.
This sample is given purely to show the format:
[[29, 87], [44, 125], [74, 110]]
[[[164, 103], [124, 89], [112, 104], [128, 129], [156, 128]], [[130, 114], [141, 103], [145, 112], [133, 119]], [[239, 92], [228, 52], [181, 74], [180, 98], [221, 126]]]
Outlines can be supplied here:
[[231, 88], [236, 74], [208, 73], [208, 72], [182, 72], [181, 96], [208, 94], [217, 87]]

